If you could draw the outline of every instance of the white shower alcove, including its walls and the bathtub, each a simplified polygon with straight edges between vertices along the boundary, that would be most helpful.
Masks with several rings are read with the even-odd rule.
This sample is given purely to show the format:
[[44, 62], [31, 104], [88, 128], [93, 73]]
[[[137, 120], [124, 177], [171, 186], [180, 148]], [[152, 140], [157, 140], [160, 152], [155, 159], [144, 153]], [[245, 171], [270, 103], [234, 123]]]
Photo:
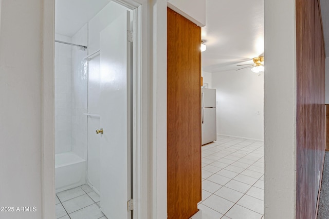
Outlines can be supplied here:
[[[87, 45], [84, 25], [72, 37], [56, 34], [56, 40]], [[56, 191], [87, 182], [88, 50], [55, 43], [55, 181]]]

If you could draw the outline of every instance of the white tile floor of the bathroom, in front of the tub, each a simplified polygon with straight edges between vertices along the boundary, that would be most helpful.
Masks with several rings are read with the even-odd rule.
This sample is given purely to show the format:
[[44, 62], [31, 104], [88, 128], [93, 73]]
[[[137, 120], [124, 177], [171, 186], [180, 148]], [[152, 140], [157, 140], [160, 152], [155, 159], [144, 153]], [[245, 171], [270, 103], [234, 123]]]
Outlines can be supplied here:
[[88, 185], [56, 193], [56, 218], [107, 219], [100, 210], [100, 197]]

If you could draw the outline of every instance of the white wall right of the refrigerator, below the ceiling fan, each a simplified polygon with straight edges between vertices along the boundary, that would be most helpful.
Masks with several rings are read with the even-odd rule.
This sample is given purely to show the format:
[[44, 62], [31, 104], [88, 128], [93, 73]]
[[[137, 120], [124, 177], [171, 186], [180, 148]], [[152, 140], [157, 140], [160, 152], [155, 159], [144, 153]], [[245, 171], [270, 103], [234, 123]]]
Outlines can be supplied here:
[[264, 74], [250, 69], [212, 73], [217, 134], [264, 139]]

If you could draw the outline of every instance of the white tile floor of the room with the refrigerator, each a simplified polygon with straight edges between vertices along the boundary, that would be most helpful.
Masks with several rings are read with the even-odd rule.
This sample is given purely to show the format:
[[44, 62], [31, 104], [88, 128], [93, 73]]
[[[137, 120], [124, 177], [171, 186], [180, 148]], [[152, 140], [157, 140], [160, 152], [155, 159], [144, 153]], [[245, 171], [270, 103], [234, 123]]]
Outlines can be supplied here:
[[263, 219], [264, 143], [217, 135], [202, 147], [202, 201], [192, 219]]

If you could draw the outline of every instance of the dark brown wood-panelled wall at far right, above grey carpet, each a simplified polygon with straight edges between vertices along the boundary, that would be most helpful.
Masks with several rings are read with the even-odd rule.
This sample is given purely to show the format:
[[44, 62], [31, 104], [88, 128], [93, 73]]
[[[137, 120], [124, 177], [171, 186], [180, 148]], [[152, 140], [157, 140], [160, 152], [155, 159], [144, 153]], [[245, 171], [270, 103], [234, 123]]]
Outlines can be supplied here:
[[296, 1], [296, 218], [316, 218], [325, 150], [325, 57], [318, 0]]

